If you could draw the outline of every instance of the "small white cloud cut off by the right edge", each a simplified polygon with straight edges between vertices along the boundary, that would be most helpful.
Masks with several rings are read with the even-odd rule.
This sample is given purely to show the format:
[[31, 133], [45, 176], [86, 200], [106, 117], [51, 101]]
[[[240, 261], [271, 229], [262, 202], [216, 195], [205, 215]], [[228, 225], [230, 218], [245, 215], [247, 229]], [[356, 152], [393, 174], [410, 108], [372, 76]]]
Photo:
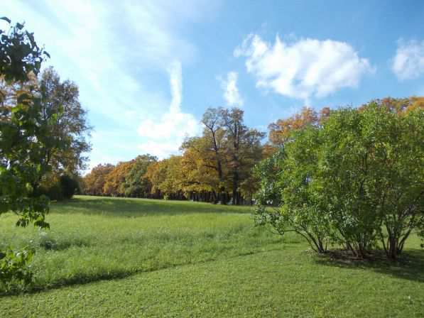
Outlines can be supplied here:
[[398, 79], [414, 79], [424, 74], [424, 40], [398, 41], [396, 55], [391, 61], [391, 70]]

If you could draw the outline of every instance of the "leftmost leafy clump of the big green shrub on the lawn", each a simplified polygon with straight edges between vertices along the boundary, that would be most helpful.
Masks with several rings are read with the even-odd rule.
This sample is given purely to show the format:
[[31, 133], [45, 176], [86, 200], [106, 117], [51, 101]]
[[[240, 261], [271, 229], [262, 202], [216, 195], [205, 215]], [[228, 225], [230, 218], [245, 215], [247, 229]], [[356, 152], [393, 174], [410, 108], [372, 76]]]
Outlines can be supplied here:
[[[261, 176], [257, 194], [256, 224], [271, 224], [284, 235], [295, 231], [319, 253], [327, 251], [332, 229], [325, 214], [325, 203], [317, 194], [321, 185], [315, 179], [317, 153], [312, 149], [317, 140], [317, 128], [310, 126], [295, 136], [256, 168]], [[278, 209], [267, 204], [280, 205]]]

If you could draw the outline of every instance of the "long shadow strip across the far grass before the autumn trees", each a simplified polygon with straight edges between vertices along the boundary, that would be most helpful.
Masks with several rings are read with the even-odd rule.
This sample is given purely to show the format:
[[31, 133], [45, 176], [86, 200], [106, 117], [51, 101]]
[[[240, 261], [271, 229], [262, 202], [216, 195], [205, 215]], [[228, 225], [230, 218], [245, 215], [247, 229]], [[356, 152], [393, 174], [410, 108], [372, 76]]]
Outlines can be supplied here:
[[151, 214], [240, 213], [249, 214], [253, 207], [219, 204], [112, 197], [77, 197], [52, 204], [52, 212], [101, 214], [111, 216], [143, 216]]

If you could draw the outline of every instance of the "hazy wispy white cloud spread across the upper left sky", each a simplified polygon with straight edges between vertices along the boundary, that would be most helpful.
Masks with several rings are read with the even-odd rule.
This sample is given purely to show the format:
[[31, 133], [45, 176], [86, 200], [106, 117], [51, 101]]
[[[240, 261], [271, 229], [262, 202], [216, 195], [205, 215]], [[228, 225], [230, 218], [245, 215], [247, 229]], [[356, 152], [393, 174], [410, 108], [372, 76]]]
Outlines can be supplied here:
[[[175, 60], [195, 62], [197, 47], [186, 34], [214, 6], [206, 0], [16, 0], [2, 4], [1, 14], [25, 21], [50, 53], [47, 63], [77, 82], [95, 127], [90, 157], [96, 165], [134, 158], [138, 145], [150, 141], [137, 128], [146, 117], [163, 119], [169, 105], [163, 79]], [[126, 150], [112, 156], [123, 143]]]

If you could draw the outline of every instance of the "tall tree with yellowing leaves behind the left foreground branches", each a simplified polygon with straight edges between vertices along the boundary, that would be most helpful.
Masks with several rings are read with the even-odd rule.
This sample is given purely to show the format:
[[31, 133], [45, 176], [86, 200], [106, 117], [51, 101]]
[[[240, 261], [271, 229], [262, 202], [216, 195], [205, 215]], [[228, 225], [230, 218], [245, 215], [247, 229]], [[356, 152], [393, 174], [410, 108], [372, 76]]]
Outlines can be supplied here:
[[45, 147], [41, 159], [50, 170], [40, 175], [36, 188], [50, 199], [65, 197], [62, 193], [66, 191], [65, 184], [60, 180], [76, 181], [91, 149], [87, 141], [91, 128], [87, 124], [87, 112], [78, 100], [77, 85], [69, 80], [61, 82], [59, 75], [49, 67], [39, 77], [28, 75], [28, 80], [22, 83], [6, 83], [0, 79], [0, 91], [4, 107], [15, 103], [23, 91], [38, 97], [40, 121], [55, 144]]

